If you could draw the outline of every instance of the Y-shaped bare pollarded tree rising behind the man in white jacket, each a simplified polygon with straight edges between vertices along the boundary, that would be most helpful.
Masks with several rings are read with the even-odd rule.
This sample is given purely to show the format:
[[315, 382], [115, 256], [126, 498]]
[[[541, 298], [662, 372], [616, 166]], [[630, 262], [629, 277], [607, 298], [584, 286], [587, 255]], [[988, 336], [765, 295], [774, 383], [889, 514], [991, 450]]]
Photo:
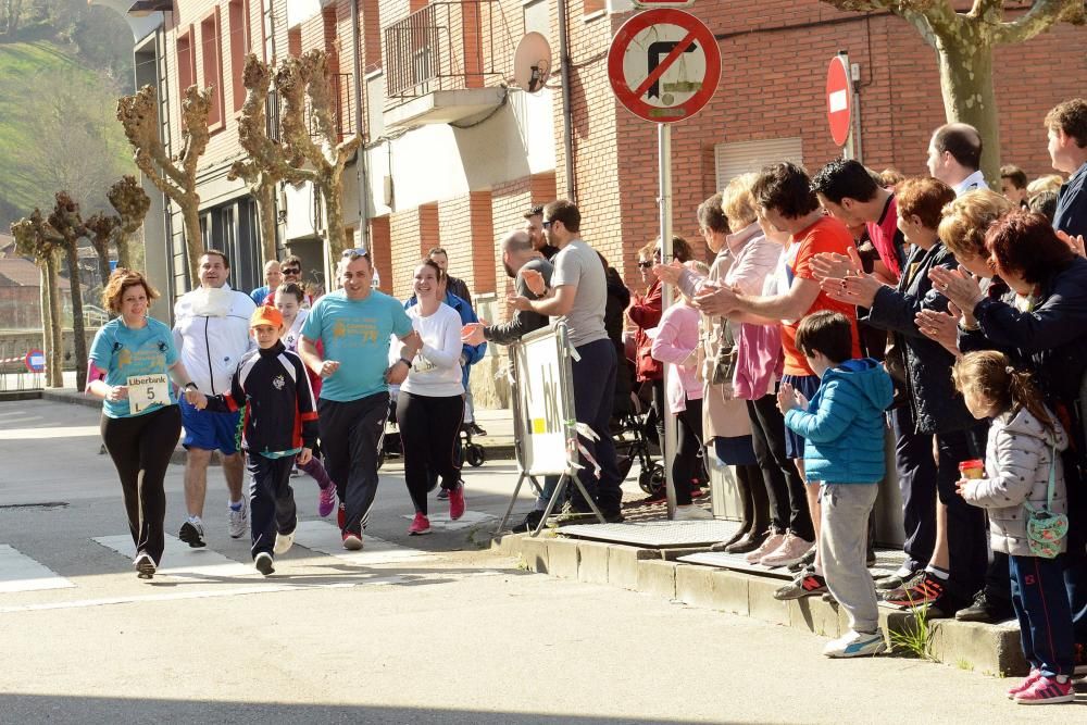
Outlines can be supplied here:
[[160, 191], [182, 210], [185, 220], [185, 250], [189, 278], [199, 278], [198, 263], [203, 252], [200, 237], [200, 195], [197, 193], [197, 164], [208, 148], [208, 112], [211, 89], [185, 89], [182, 100], [182, 152], [173, 158], [159, 138], [159, 101], [152, 86], [143, 86], [117, 101], [117, 121], [135, 149], [136, 166]]

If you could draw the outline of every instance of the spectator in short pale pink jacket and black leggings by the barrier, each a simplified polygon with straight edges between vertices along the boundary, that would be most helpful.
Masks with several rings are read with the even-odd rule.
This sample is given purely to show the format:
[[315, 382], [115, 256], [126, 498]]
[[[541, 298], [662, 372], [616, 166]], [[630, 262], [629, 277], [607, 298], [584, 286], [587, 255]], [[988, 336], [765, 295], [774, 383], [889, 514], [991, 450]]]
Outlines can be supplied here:
[[[710, 272], [701, 262], [687, 262], [684, 266], [703, 275]], [[692, 505], [690, 496], [690, 479], [702, 448], [702, 382], [698, 378], [696, 352], [698, 320], [699, 312], [691, 307], [690, 298], [680, 297], [661, 315], [651, 350], [654, 359], [672, 363], [665, 379], [665, 397], [679, 427], [679, 442], [672, 459], [676, 521], [713, 517], [705, 509]]]

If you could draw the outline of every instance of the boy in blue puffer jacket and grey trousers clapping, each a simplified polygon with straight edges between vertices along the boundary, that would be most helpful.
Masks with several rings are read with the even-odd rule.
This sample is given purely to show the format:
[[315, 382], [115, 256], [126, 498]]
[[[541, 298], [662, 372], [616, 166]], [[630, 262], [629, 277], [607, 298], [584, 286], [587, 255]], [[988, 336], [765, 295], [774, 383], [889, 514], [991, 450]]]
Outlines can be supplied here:
[[[804, 472], [822, 482], [819, 560], [850, 632], [827, 642], [827, 657], [864, 657], [887, 645], [876, 590], [865, 566], [869, 515], [884, 477], [884, 411], [895, 396], [890, 376], [872, 359], [851, 359], [852, 327], [838, 312], [815, 312], [797, 329], [797, 349], [820, 376], [811, 401], [788, 384], [777, 393], [785, 425], [804, 438]], [[820, 574], [820, 572], [816, 572]]]

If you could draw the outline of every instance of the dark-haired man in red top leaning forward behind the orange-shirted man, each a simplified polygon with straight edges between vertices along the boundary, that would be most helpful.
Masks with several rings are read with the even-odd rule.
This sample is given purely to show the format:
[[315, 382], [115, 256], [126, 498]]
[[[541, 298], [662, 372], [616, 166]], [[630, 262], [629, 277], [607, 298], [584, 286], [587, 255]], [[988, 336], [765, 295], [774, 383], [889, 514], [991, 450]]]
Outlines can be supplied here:
[[835, 159], [823, 166], [812, 178], [812, 190], [830, 216], [846, 226], [865, 225], [882, 263], [873, 273], [888, 285], [898, 284], [905, 261], [905, 239], [898, 228], [895, 195], [880, 187], [864, 164], [852, 159]]

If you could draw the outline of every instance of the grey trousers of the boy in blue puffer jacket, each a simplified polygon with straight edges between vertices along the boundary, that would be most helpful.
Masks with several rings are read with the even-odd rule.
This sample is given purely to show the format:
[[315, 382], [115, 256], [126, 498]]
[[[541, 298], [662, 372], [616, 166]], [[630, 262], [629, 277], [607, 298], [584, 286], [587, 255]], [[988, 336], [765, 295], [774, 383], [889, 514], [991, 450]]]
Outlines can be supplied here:
[[853, 632], [875, 633], [879, 628], [876, 589], [865, 566], [869, 514], [879, 486], [875, 484], [823, 484], [823, 527], [819, 549], [830, 595], [849, 613]]

